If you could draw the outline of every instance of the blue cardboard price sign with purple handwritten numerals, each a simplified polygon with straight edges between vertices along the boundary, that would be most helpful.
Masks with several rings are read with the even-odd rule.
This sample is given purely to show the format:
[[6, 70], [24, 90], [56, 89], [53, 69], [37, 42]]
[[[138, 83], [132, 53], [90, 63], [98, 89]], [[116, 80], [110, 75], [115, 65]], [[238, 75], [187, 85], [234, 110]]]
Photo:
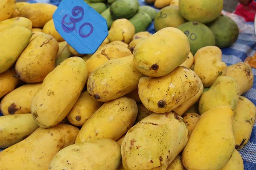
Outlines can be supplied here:
[[105, 18], [83, 0], [62, 0], [52, 17], [58, 33], [79, 54], [93, 54], [108, 36]]

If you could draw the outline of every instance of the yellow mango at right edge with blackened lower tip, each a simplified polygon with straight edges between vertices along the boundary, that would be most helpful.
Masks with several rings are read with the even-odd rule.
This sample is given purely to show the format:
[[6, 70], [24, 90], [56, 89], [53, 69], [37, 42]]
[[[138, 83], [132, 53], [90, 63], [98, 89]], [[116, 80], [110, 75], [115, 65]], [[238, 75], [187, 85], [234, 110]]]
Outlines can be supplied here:
[[242, 149], [248, 143], [253, 125], [255, 124], [256, 107], [249, 99], [240, 96], [233, 119], [233, 133], [236, 139], [236, 149]]

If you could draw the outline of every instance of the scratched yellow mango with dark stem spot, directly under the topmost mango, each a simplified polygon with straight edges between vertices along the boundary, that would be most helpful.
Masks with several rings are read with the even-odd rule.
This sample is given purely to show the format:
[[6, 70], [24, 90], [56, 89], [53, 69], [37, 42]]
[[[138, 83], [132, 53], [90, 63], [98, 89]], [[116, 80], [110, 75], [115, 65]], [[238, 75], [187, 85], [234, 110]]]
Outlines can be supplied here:
[[141, 102], [150, 111], [167, 113], [195, 96], [201, 81], [194, 71], [177, 67], [163, 77], [142, 77], [138, 91]]

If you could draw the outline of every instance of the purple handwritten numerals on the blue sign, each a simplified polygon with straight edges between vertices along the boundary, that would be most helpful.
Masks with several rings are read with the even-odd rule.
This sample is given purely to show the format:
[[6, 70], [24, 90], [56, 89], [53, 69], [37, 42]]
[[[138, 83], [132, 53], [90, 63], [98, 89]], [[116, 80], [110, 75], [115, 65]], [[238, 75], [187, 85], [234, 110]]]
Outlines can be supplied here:
[[[79, 14], [81, 14], [81, 16], [79, 18], [73, 18], [73, 17], [78, 17]], [[84, 9], [81, 7], [81, 6], [75, 6], [73, 9], [72, 9], [72, 16], [73, 17], [70, 17], [70, 22], [69, 23], [66, 23], [65, 22], [65, 19], [67, 18], [67, 14], [64, 15], [64, 17], [62, 18], [61, 20], [61, 26], [62, 26], [62, 29], [67, 32], [67, 33], [70, 33], [70, 32], [73, 32], [74, 30], [76, 30], [76, 23], [80, 22], [83, 17], [84, 17]], [[72, 26], [70, 26], [71, 24], [73, 24]], [[88, 34], [84, 34], [83, 33], [83, 27], [84, 26], [90, 26], [90, 32]], [[89, 37], [90, 34], [93, 33], [93, 26], [91, 23], [83, 23], [79, 30], [78, 30], [78, 33], [79, 33], [79, 36], [82, 37], [82, 38], [86, 38], [86, 37]]]

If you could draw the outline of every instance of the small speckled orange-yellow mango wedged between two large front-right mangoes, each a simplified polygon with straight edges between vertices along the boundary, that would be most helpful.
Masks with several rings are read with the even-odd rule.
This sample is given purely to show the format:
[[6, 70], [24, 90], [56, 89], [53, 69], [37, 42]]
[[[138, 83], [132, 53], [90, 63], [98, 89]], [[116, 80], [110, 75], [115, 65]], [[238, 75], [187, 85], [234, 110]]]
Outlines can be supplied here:
[[182, 116], [182, 118], [186, 123], [186, 127], [188, 128], [190, 135], [195, 125], [197, 124], [200, 115], [198, 113], [186, 113]]

